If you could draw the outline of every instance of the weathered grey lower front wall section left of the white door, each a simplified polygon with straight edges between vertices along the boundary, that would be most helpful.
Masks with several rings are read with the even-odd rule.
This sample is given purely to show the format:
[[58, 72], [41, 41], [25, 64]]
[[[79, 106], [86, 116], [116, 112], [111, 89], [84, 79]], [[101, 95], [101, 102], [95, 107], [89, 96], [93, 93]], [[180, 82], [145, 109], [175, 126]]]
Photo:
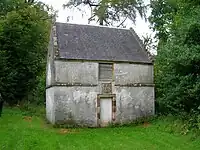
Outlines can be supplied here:
[[55, 122], [97, 126], [98, 87], [54, 87]]

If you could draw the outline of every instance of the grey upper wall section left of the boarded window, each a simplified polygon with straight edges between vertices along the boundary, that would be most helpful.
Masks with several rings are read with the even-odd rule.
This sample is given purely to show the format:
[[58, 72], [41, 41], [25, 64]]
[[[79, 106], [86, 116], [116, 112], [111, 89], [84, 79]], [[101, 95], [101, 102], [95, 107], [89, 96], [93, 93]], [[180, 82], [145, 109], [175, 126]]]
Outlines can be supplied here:
[[66, 84], [98, 84], [98, 63], [55, 61], [55, 81]]

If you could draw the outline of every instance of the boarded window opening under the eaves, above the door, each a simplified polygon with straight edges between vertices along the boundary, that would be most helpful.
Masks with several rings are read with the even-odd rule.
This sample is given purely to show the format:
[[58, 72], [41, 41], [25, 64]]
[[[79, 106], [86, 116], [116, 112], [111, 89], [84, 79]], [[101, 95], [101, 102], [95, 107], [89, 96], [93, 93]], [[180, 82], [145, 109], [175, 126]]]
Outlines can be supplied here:
[[99, 64], [99, 80], [112, 81], [112, 77], [113, 77], [113, 64], [100, 63]]

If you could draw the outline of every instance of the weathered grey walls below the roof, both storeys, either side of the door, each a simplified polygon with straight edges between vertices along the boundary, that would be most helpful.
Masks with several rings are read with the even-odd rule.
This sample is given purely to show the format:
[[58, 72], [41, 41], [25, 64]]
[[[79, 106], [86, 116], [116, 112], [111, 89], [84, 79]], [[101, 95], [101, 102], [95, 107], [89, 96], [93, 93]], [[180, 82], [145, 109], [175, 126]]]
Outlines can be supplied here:
[[[153, 115], [153, 66], [117, 63], [113, 72], [116, 122]], [[47, 118], [52, 123], [97, 126], [97, 95], [101, 94], [98, 63], [56, 60], [55, 81], [54, 87], [47, 89]], [[138, 83], [141, 85], [135, 86]]]

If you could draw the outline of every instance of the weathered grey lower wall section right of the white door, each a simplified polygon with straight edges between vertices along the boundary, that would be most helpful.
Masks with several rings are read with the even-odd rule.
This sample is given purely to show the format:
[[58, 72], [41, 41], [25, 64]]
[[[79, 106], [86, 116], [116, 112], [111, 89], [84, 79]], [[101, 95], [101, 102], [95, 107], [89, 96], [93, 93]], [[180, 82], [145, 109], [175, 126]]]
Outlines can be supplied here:
[[115, 87], [116, 121], [129, 122], [154, 114], [154, 87]]

